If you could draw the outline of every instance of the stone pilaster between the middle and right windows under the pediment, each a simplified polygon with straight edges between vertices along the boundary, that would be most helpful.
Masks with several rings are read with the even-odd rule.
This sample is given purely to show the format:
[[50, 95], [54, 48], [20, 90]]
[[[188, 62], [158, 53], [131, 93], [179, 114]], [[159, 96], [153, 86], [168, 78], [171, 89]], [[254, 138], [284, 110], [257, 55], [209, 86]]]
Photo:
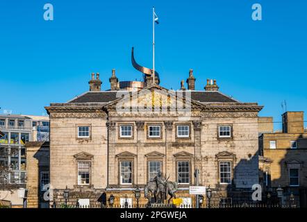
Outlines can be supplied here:
[[172, 152], [172, 133], [173, 133], [173, 121], [164, 121], [165, 125], [165, 177], [170, 181], [176, 180], [176, 174], [174, 173], [174, 156]]

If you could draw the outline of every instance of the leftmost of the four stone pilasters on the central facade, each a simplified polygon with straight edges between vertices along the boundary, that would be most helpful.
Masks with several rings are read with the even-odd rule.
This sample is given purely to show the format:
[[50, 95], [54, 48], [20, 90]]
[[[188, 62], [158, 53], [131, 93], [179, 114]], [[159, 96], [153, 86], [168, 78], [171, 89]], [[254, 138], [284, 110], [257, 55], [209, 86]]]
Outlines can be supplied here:
[[107, 121], [106, 126], [108, 128], [108, 185], [117, 184], [115, 178], [115, 142], [116, 142], [116, 122]]

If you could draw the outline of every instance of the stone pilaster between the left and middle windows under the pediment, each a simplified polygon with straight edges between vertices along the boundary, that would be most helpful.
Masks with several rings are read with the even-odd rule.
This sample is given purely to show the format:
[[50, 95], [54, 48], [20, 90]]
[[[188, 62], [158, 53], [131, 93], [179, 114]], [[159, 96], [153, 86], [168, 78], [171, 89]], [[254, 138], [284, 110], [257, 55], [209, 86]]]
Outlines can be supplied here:
[[146, 171], [147, 171], [147, 162], [144, 157], [144, 142], [145, 142], [145, 134], [144, 134], [144, 121], [136, 121], [136, 142], [137, 142], [137, 163], [135, 167], [137, 167], [137, 178], [135, 184], [136, 185], [144, 185], [146, 184]]

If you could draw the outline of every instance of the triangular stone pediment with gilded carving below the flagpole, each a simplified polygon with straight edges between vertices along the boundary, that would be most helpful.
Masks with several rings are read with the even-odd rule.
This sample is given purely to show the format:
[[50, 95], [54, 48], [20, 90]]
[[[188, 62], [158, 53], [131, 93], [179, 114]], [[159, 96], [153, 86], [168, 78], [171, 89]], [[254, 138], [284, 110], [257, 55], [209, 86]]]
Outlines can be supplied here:
[[[159, 85], [151, 85], [145, 87], [138, 92], [118, 92], [119, 99], [108, 103], [107, 109], [117, 108], [118, 110], [130, 111], [131, 109], [138, 111], [146, 111], [151, 109], [169, 109], [178, 110], [178, 108], [191, 108], [191, 110], [201, 110], [204, 105], [191, 99], [190, 91], [174, 91], [160, 87]], [[128, 109], [127, 109], [128, 108]]]

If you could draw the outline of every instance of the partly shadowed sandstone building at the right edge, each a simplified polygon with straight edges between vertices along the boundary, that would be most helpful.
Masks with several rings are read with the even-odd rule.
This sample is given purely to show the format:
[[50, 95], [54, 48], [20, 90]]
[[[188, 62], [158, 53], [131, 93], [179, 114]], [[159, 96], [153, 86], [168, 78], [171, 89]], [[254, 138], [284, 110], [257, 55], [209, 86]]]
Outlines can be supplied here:
[[273, 132], [272, 118], [267, 121], [267, 128], [272, 131], [260, 132], [260, 182], [264, 194], [274, 194], [280, 186], [283, 189], [283, 204], [289, 204], [290, 195], [293, 194], [295, 203], [306, 207], [307, 132], [304, 130], [304, 112], [285, 112], [282, 120], [281, 132]]

